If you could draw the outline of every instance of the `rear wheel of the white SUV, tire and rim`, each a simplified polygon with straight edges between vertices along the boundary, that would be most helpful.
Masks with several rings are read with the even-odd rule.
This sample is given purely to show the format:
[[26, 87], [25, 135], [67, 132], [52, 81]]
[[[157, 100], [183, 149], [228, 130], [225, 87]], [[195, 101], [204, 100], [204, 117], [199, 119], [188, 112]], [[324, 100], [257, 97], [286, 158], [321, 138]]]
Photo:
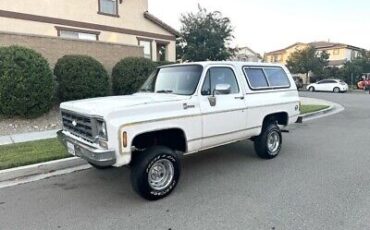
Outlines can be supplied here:
[[254, 148], [257, 155], [262, 159], [273, 159], [281, 150], [282, 136], [279, 126], [270, 123], [262, 129], [262, 133], [256, 137]]

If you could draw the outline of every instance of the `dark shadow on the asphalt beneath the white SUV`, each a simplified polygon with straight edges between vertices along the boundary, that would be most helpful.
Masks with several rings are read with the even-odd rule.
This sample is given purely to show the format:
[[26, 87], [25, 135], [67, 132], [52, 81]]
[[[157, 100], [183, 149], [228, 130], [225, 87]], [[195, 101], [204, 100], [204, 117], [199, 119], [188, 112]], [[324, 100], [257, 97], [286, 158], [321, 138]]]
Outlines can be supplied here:
[[[253, 142], [242, 141], [227, 146], [214, 148], [197, 154], [184, 156], [182, 159], [182, 175], [178, 190], [186, 192], [200, 186], [204, 181], [228, 174], [230, 168], [249, 167], [255, 162], [263, 162], [254, 152]], [[227, 167], [225, 167], [227, 166]], [[65, 193], [78, 196], [81, 202], [86, 199], [84, 193], [90, 196], [104, 194], [104, 205], [117, 205], [128, 203], [145, 203], [131, 188], [129, 167], [113, 168], [108, 170], [89, 169], [62, 177], [55, 177], [41, 183], [50, 181], [53, 187], [62, 189]], [[81, 196], [81, 197], [80, 197]], [[102, 200], [100, 198], [99, 200]], [[117, 202], [120, 200], [120, 202]], [[135, 202], [133, 202], [135, 201]], [[91, 200], [89, 201], [91, 203]]]

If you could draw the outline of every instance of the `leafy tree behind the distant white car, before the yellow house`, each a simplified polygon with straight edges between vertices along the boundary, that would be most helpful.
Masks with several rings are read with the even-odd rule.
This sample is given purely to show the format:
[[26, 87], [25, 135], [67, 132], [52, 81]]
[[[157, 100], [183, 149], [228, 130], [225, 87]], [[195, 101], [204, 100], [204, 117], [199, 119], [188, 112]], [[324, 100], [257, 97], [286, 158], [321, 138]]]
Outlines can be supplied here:
[[303, 50], [292, 53], [287, 61], [287, 67], [293, 73], [306, 74], [309, 81], [309, 73], [322, 74], [328, 64], [329, 54], [318, 54], [315, 47], [309, 46]]

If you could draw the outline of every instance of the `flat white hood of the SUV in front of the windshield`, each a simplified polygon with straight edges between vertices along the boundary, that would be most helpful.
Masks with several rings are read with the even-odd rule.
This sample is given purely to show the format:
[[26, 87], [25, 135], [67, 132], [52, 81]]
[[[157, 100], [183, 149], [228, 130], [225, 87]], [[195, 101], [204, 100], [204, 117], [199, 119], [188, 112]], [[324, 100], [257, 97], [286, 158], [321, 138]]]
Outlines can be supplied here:
[[180, 101], [186, 98], [189, 98], [189, 96], [158, 93], [137, 93], [128, 96], [99, 97], [63, 102], [60, 105], [60, 108], [90, 116], [105, 117], [111, 112], [134, 106]]

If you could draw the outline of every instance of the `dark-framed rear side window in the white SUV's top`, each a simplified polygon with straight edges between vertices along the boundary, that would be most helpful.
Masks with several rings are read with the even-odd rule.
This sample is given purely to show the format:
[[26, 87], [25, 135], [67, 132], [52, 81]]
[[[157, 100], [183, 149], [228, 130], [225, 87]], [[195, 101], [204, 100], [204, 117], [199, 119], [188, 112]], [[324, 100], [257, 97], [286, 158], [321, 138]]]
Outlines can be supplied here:
[[249, 86], [254, 89], [289, 88], [290, 81], [280, 67], [244, 67]]

